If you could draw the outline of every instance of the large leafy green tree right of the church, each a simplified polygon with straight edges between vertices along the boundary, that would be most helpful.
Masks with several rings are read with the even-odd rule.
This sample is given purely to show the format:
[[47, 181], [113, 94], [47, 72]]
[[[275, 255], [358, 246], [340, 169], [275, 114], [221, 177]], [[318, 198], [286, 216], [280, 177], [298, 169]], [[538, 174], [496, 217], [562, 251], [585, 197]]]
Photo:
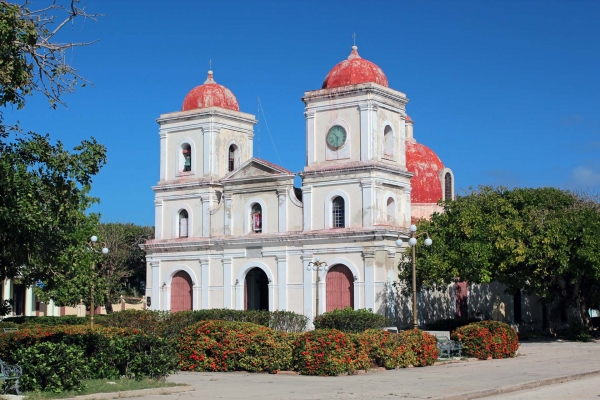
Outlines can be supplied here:
[[[419, 251], [420, 288], [497, 281], [546, 303], [558, 299], [589, 326], [587, 310], [600, 298], [597, 200], [555, 188], [482, 186], [443, 206], [418, 224], [434, 241]], [[400, 264], [401, 282], [410, 282], [411, 262], [409, 255]]]

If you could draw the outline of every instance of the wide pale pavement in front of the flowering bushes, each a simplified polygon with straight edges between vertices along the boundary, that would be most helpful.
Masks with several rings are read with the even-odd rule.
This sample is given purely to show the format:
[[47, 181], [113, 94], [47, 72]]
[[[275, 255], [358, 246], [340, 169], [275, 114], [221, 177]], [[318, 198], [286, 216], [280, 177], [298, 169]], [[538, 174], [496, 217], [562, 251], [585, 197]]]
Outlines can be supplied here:
[[[468, 361], [342, 377], [187, 372], [173, 375], [169, 381], [189, 383], [195, 391], [147, 398], [431, 399], [590, 371], [598, 371], [600, 377], [600, 343], [525, 342], [520, 353], [513, 359]], [[577, 383], [568, 384], [568, 387], [571, 385], [576, 387]], [[552, 386], [545, 388], [551, 390]], [[536, 390], [546, 393], [543, 392], [545, 389]], [[565, 390], [546, 398], [570, 398], [570, 389]], [[534, 390], [533, 393], [537, 392]], [[504, 394], [500, 398], [513, 394]]]

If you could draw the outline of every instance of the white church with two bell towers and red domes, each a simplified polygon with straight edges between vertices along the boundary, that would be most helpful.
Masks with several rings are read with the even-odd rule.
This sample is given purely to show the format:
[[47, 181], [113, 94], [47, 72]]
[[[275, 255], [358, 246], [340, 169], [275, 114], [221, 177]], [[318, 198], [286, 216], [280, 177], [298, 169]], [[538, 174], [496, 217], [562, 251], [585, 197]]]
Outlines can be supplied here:
[[[452, 170], [416, 142], [408, 98], [356, 46], [302, 101], [301, 187], [253, 157], [256, 118], [212, 71], [160, 116], [148, 308], [394, 312], [404, 232], [454, 196]], [[441, 316], [454, 316], [453, 288], [447, 297]]]

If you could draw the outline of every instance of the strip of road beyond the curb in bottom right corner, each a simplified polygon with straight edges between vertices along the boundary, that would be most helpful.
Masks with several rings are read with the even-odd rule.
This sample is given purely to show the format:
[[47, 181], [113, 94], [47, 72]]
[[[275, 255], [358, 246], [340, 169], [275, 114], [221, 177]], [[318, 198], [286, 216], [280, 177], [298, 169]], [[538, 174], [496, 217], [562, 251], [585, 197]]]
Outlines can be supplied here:
[[600, 377], [587, 378], [556, 385], [543, 386], [536, 389], [507, 393], [500, 396], [486, 397], [486, 399], [506, 400], [547, 400], [547, 399], [600, 399]]

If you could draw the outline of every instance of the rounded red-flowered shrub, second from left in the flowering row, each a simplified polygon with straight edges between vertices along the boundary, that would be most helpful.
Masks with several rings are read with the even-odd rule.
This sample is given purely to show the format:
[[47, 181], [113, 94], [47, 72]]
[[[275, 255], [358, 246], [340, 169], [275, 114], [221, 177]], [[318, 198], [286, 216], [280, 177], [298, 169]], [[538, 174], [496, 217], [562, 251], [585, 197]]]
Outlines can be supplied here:
[[357, 336], [335, 329], [306, 332], [294, 343], [294, 366], [303, 375], [352, 373], [370, 364]]

